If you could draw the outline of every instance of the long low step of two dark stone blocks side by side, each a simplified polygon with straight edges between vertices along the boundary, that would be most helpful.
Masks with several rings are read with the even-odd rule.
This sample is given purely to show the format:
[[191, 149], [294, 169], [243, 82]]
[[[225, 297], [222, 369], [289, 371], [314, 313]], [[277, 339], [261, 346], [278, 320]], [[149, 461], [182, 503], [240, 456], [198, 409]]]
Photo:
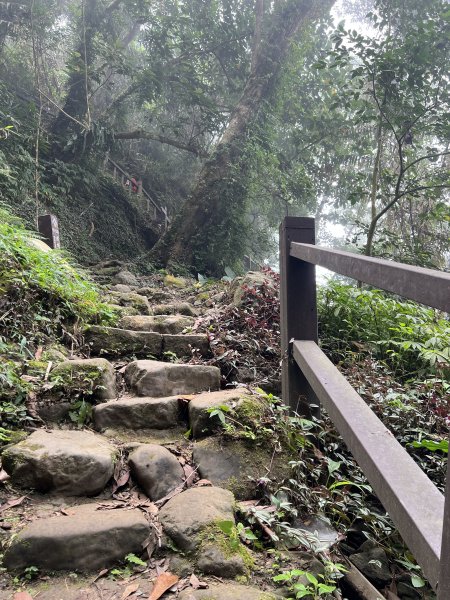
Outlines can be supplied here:
[[191, 356], [193, 349], [202, 356], [210, 352], [206, 334], [161, 334], [92, 325], [85, 330], [84, 337], [93, 354], [112, 357], [132, 355], [159, 358], [164, 352], [172, 352], [182, 358]]

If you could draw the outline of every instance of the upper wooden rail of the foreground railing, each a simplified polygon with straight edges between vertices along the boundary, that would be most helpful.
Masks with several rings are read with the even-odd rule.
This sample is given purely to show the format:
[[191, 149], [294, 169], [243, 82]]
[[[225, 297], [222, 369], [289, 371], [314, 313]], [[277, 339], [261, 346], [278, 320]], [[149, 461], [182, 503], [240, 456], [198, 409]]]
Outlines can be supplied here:
[[450, 312], [450, 273], [293, 242], [290, 255], [302, 261]]

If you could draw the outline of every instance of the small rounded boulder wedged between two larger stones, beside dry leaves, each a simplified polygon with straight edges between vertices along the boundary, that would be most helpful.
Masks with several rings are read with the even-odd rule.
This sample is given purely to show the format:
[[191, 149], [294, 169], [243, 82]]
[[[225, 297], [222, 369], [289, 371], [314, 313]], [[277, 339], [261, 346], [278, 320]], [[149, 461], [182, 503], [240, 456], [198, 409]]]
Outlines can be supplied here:
[[182, 466], [163, 446], [142, 444], [130, 454], [128, 464], [133, 478], [150, 500], [159, 500], [183, 485]]

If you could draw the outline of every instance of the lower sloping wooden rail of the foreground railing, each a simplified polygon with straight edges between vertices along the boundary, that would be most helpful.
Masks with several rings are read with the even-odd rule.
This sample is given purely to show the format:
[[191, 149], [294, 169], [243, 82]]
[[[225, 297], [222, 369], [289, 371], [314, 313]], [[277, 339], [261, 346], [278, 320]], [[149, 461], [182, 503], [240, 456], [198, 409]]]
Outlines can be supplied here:
[[[294, 341], [293, 348], [295, 361], [436, 589], [444, 496], [315, 342]], [[447, 511], [449, 515], [448, 506]], [[450, 549], [448, 531], [446, 528], [445, 552]], [[448, 564], [442, 568], [443, 585], [449, 590]], [[449, 598], [444, 592], [439, 596], [440, 600]]]

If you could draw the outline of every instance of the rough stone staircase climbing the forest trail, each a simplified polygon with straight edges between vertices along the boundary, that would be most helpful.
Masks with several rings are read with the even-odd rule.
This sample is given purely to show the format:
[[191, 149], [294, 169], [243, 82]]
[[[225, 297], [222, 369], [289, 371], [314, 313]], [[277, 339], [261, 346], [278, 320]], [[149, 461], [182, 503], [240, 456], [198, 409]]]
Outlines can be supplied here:
[[[118, 326], [84, 334], [91, 358], [61, 362], [50, 373], [55, 385], [93, 386], [93, 430], [67, 425], [67, 399], [50, 402], [39, 407], [44, 426], [3, 452], [13, 489], [27, 496], [4, 565], [11, 573], [53, 573], [35, 585], [40, 600], [148, 598], [163, 572], [179, 578], [163, 598], [279, 598], [267, 583], [255, 585], [255, 557], [239, 536], [230, 544], [220, 526], [235, 525], [236, 499], [250, 499], [251, 481], [267, 474], [265, 465], [287, 465], [270, 449], [255, 452], [215, 435], [212, 410], [260, 400], [243, 388], [221, 390], [216, 367], [179, 360], [208, 356], [206, 334], [189, 332], [197, 307], [163, 304], [162, 290], [124, 287], [108, 294], [123, 313]], [[127, 596], [120, 581], [97, 577], [143, 553], [147, 568], [133, 574], [138, 585]], [[55, 572], [71, 573], [64, 589]], [[193, 573], [209, 587], [192, 585]], [[227, 582], [235, 578], [245, 585]], [[0, 591], [0, 598], [13, 597], [11, 589]]]

